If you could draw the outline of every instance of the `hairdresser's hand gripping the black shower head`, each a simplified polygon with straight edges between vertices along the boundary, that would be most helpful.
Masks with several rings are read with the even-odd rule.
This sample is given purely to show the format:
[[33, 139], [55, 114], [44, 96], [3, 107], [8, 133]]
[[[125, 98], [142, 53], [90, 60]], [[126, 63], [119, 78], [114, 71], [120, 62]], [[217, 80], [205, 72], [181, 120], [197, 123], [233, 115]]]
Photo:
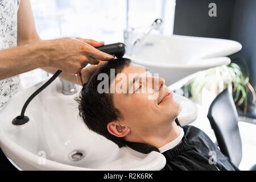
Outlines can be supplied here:
[[[60, 38], [42, 40], [39, 51], [46, 59], [46, 67], [55, 67], [61, 71], [76, 74], [89, 64], [98, 64], [99, 60], [109, 61], [114, 56], [101, 52], [94, 47], [103, 46], [104, 42], [81, 38]], [[90, 68], [92, 69], [92, 68]]]

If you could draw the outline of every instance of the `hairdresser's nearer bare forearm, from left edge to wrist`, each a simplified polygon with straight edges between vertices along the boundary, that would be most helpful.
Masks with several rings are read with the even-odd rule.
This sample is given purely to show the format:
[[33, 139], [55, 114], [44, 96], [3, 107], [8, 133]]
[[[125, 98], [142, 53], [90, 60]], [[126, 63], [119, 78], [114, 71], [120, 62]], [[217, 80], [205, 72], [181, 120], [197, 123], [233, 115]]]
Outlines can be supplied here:
[[0, 80], [35, 68], [50, 66], [44, 55], [45, 47], [38, 43], [26, 44], [0, 51]]

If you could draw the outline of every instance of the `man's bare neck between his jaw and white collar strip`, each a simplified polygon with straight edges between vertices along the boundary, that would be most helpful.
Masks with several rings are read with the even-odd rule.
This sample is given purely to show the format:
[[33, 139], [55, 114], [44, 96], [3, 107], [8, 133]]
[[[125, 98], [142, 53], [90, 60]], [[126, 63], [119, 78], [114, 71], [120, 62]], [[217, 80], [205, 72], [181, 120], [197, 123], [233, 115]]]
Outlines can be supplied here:
[[173, 121], [170, 123], [170, 125], [164, 126], [161, 129], [155, 131], [154, 134], [150, 134], [150, 136], [147, 135], [144, 137], [143, 143], [147, 143], [156, 148], [160, 148], [175, 138], [179, 137], [179, 135], [179, 126], [177, 126], [176, 122]]

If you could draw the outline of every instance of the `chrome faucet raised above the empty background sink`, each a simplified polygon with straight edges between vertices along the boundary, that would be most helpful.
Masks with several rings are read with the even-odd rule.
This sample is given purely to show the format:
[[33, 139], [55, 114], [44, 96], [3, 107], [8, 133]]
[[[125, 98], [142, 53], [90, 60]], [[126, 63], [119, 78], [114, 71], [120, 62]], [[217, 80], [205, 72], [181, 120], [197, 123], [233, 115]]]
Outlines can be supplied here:
[[162, 25], [162, 19], [155, 19], [154, 22], [144, 31], [138, 39], [132, 42], [132, 34], [134, 32], [134, 28], [126, 28], [123, 31], [123, 42], [126, 44], [127, 55], [131, 55], [135, 46], [138, 45], [153, 29], [159, 30]]

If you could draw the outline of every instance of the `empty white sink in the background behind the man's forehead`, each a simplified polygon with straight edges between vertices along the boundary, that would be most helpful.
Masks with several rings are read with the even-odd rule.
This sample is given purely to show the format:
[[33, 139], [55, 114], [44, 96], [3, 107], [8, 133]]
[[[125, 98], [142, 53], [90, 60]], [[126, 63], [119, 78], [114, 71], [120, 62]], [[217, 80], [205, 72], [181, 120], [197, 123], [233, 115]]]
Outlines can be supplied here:
[[159, 73], [166, 85], [171, 85], [198, 71], [229, 64], [230, 59], [225, 56], [241, 48], [241, 44], [233, 40], [151, 34], [127, 57], [151, 73]]

